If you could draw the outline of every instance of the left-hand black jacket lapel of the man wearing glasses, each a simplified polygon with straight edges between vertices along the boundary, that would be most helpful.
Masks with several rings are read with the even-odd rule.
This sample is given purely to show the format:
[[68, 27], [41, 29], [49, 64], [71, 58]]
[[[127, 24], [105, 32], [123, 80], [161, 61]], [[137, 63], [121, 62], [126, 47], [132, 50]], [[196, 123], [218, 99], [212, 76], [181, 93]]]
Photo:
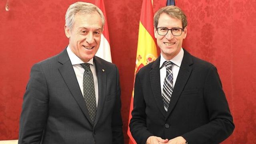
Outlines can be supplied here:
[[150, 71], [150, 84], [154, 98], [156, 100], [156, 105], [158, 106], [160, 112], [166, 116], [166, 111], [164, 110], [164, 104], [162, 100], [161, 84], [160, 84], [160, 56], [154, 61], [152, 65], [152, 70]]

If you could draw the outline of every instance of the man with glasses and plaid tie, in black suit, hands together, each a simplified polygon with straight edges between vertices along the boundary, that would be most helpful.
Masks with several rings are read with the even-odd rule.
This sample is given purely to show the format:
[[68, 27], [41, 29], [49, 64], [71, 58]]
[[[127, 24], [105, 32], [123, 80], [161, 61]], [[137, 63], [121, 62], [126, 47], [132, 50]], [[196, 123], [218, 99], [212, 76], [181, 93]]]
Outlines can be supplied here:
[[182, 48], [187, 31], [176, 6], [154, 15], [161, 54], [136, 74], [130, 131], [138, 144], [216, 144], [234, 130], [216, 67]]

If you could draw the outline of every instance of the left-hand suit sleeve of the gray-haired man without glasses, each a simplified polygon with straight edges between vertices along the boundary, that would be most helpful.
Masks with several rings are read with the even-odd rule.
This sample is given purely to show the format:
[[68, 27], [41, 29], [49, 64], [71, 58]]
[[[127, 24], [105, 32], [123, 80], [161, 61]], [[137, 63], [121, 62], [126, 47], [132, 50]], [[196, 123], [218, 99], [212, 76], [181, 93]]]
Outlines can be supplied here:
[[42, 68], [35, 64], [23, 98], [18, 144], [39, 144], [48, 116], [48, 89]]

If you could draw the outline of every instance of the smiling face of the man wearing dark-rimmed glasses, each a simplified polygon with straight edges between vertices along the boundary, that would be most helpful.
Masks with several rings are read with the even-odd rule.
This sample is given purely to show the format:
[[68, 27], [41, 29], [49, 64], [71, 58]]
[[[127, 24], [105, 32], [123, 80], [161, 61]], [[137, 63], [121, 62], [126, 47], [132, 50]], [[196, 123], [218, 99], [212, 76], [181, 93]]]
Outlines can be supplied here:
[[[170, 17], [166, 13], [162, 13], [158, 19], [157, 27], [168, 29], [182, 28], [182, 22], [179, 19]], [[171, 60], [180, 52], [182, 41], [187, 36], [187, 27], [184, 28], [184, 32], [182, 32], [180, 36], [173, 36], [170, 30], [165, 36], [160, 36], [157, 33], [156, 28], [154, 28], [154, 35], [161, 50], [161, 54], [166, 60]]]

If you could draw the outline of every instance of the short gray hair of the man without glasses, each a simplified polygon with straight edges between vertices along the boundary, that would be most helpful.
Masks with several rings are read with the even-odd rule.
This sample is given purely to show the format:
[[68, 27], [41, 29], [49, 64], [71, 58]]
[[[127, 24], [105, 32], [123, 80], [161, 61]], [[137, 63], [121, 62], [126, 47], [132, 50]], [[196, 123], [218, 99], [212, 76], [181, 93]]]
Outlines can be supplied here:
[[100, 8], [88, 2], [76, 2], [68, 7], [65, 15], [66, 26], [72, 30], [74, 24], [74, 17], [76, 14], [92, 14], [93, 12], [98, 12], [98, 14], [100, 14], [102, 20], [101, 29], [103, 30], [105, 24], [104, 14], [100, 10]]

